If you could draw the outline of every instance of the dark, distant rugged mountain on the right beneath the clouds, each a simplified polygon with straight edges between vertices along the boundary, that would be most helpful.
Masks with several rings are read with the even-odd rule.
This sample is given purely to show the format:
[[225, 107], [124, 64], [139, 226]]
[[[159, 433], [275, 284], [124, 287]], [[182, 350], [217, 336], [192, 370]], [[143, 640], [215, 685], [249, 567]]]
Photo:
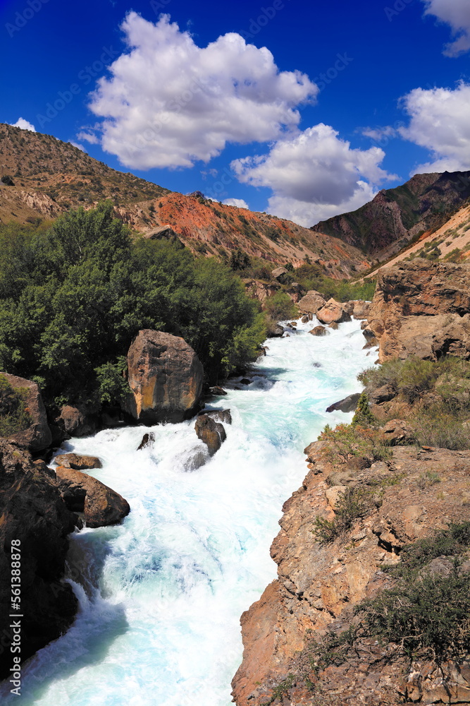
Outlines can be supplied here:
[[400, 251], [420, 232], [435, 230], [470, 197], [470, 172], [415, 174], [395, 189], [383, 189], [361, 208], [314, 225], [314, 232], [373, 253], [380, 261]]

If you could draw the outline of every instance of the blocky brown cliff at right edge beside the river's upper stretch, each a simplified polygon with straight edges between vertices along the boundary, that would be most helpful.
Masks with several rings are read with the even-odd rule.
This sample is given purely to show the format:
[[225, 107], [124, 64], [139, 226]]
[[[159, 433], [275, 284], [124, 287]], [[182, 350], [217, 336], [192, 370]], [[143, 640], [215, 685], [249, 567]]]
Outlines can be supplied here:
[[416, 355], [470, 358], [470, 268], [416, 259], [385, 268], [364, 335], [379, 342], [379, 360]]

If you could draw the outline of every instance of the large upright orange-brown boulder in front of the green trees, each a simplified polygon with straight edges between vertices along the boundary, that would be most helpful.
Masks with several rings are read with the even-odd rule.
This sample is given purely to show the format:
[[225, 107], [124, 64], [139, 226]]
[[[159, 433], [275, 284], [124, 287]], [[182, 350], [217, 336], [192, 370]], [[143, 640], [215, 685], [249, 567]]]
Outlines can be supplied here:
[[188, 419], [197, 412], [203, 378], [202, 363], [183, 338], [139, 331], [128, 352], [127, 411], [149, 425]]

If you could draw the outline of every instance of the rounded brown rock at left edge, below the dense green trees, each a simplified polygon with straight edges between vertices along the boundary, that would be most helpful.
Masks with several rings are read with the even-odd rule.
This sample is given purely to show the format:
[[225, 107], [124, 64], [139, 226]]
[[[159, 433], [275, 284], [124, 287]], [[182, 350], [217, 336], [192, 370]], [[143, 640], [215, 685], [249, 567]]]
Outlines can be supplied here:
[[24, 444], [30, 451], [42, 451], [51, 445], [52, 434], [47, 425], [47, 414], [42, 401], [39, 385], [32, 380], [18, 378], [16, 375], [0, 373], [8, 385], [23, 397], [25, 412], [29, 417], [29, 424], [25, 429], [9, 435], [11, 441]]

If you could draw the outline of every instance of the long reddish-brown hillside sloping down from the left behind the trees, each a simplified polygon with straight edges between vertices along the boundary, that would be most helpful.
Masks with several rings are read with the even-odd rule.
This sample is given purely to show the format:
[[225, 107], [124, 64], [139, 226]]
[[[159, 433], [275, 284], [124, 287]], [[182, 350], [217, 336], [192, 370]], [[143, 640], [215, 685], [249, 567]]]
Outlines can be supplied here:
[[[7, 179], [7, 177], [11, 177]], [[226, 257], [238, 248], [272, 263], [314, 261], [333, 277], [369, 268], [359, 249], [267, 213], [188, 196], [111, 169], [70, 143], [0, 124], [0, 220], [53, 220], [111, 198], [116, 215], [147, 237], [173, 237], [193, 252]], [[9, 183], [4, 183], [4, 182]]]

